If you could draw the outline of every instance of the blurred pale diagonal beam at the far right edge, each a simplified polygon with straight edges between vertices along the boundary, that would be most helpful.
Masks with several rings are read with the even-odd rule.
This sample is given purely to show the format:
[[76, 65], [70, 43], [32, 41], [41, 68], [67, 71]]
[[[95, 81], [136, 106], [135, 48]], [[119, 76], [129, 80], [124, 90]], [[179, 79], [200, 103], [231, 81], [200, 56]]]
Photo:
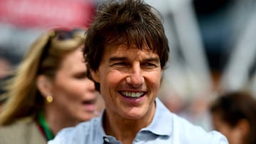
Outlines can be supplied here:
[[[250, 69], [256, 60], [256, 2], [236, 1], [233, 7], [233, 50], [220, 87], [224, 91], [247, 89], [256, 95], [256, 73], [250, 79]], [[248, 89], [249, 88], [249, 89]]]

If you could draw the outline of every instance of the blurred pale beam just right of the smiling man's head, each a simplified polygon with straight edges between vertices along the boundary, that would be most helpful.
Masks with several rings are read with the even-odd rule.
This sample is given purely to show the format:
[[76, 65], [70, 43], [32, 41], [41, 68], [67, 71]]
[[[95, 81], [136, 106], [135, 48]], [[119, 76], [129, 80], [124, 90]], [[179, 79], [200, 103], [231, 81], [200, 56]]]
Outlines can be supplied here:
[[145, 0], [164, 16], [170, 60], [164, 75], [168, 89], [193, 98], [210, 92], [212, 79], [191, 0]]

